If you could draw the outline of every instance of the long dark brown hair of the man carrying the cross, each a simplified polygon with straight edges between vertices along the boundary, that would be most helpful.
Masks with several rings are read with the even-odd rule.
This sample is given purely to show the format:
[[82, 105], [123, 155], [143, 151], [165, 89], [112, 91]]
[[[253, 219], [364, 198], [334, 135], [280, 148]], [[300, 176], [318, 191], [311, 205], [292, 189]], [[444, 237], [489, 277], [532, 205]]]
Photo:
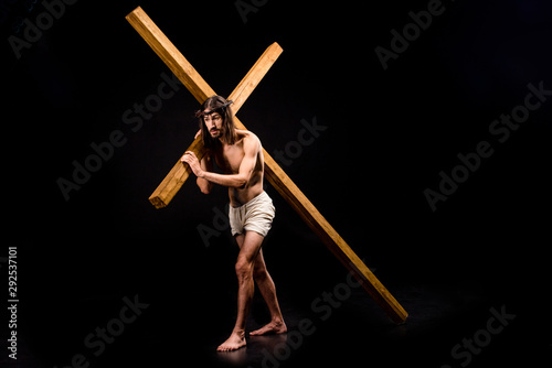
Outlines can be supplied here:
[[224, 97], [211, 96], [203, 102], [201, 110], [195, 112], [195, 117], [199, 118], [201, 138], [203, 139], [203, 145], [205, 148], [213, 148], [219, 143], [219, 139], [211, 138], [206, 125], [203, 121], [205, 110], [209, 110], [210, 113], [219, 112], [222, 116], [222, 137], [226, 143], [235, 143], [236, 128], [234, 125], [234, 113], [230, 107], [232, 101], [227, 101]]

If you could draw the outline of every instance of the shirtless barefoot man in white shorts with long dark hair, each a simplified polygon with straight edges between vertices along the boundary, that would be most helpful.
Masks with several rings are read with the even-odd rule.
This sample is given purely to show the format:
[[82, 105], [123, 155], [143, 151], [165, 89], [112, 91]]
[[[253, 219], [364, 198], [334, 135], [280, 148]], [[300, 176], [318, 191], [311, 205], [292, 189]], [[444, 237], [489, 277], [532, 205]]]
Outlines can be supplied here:
[[[270, 312], [270, 322], [250, 335], [282, 334], [287, 332], [282, 316], [276, 288], [266, 270], [261, 246], [270, 229], [275, 208], [263, 190], [264, 156], [259, 139], [234, 126], [230, 105], [223, 97], [208, 98], [197, 116], [206, 153], [201, 162], [188, 151], [181, 161], [190, 165], [198, 176], [202, 193], [210, 193], [213, 184], [229, 187], [230, 226], [240, 246], [235, 264], [237, 290], [237, 318], [231, 336], [219, 346], [219, 351], [236, 350], [246, 345], [245, 322], [256, 281]], [[213, 162], [224, 172], [213, 172]]]

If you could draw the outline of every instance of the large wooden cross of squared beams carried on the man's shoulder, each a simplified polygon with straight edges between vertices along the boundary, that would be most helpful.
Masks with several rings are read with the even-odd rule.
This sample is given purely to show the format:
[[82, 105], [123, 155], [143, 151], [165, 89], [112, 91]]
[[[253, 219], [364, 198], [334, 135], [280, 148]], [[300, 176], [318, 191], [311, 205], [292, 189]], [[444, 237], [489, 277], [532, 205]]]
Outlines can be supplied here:
[[[126, 19], [200, 104], [203, 104], [206, 98], [216, 95], [140, 7], [130, 12]], [[282, 52], [282, 47], [277, 43], [273, 43], [230, 95], [227, 99], [234, 101], [232, 106], [234, 113], [242, 107]], [[235, 117], [234, 121], [238, 129], [246, 130], [237, 117]], [[187, 151], [193, 151], [198, 159], [201, 160], [204, 155], [201, 137], [198, 137]], [[326, 218], [323, 218], [289, 176], [287, 176], [268, 152], [263, 149], [263, 153], [265, 158], [265, 176], [268, 182], [320, 237], [341, 263], [362, 283], [365, 291], [388, 313], [391, 320], [396, 324], [404, 323], [408, 316], [406, 311], [331, 227]], [[189, 177], [191, 169], [188, 164], [179, 160], [149, 197], [151, 204], [156, 208], [167, 206]]]

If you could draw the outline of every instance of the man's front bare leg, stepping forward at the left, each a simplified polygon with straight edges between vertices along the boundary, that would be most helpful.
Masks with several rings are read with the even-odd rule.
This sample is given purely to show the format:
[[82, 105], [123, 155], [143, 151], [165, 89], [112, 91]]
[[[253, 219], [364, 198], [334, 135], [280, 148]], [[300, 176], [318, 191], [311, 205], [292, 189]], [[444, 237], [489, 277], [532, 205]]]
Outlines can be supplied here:
[[[240, 239], [242, 240], [242, 239]], [[231, 351], [237, 350], [246, 345], [245, 343], [245, 322], [250, 312], [251, 301], [255, 291], [253, 281], [253, 269], [255, 259], [261, 250], [264, 237], [255, 231], [246, 231], [243, 236], [240, 253], [236, 261], [237, 275], [237, 317], [232, 335], [216, 350]], [[238, 242], [240, 245], [240, 242]]]

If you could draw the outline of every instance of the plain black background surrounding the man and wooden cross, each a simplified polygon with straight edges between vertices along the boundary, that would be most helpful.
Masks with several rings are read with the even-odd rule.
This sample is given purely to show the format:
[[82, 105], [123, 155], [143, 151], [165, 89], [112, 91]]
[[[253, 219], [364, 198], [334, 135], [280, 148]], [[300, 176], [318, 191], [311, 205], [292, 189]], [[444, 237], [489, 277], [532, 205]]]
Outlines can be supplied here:
[[[270, 366], [262, 351], [274, 340], [214, 353], [235, 317], [237, 249], [229, 230], [206, 247], [198, 226], [214, 228], [226, 190], [204, 196], [191, 181], [168, 208], [148, 202], [192, 141], [199, 104], [181, 87], [137, 131], [123, 121], [170, 75], [125, 20], [138, 6], [223, 96], [282, 45], [238, 117], [269, 153], [297, 140], [301, 120], [326, 127], [283, 167], [410, 312], [394, 326], [355, 290], [320, 321], [312, 301], [347, 271], [266, 184], [277, 217], [265, 258], [284, 315], [290, 331], [301, 318], [317, 327], [278, 365], [458, 366], [452, 348], [492, 307], [516, 318], [470, 367], [550, 359], [552, 96], [503, 143], [489, 132], [530, 83], [552, 89], [549, 2], [444, 1], [388, 69], [374, 48], [427, 1], [259, 1], [244, 22], [233, 1], [81, 0], [19, 59], [12, 25], [45, 9], [2, 3], [4, 242], [18, 246], [20, 299], [19, 359], [3, 349], [7, 366], [65, 367], [77, 354], [91, 367]], [[116, 130], [126, 143], [66, 201], [59, 178]], [[492, 155], [433, 212], [424, 191], [480, 141]], [[95, 357], [85, 336], [135, 295], [149, 306]], [[258, 295], [252, 313], [251, 326], [266, 318]], [[0, 324], [9, 332], [8, 316]]]

